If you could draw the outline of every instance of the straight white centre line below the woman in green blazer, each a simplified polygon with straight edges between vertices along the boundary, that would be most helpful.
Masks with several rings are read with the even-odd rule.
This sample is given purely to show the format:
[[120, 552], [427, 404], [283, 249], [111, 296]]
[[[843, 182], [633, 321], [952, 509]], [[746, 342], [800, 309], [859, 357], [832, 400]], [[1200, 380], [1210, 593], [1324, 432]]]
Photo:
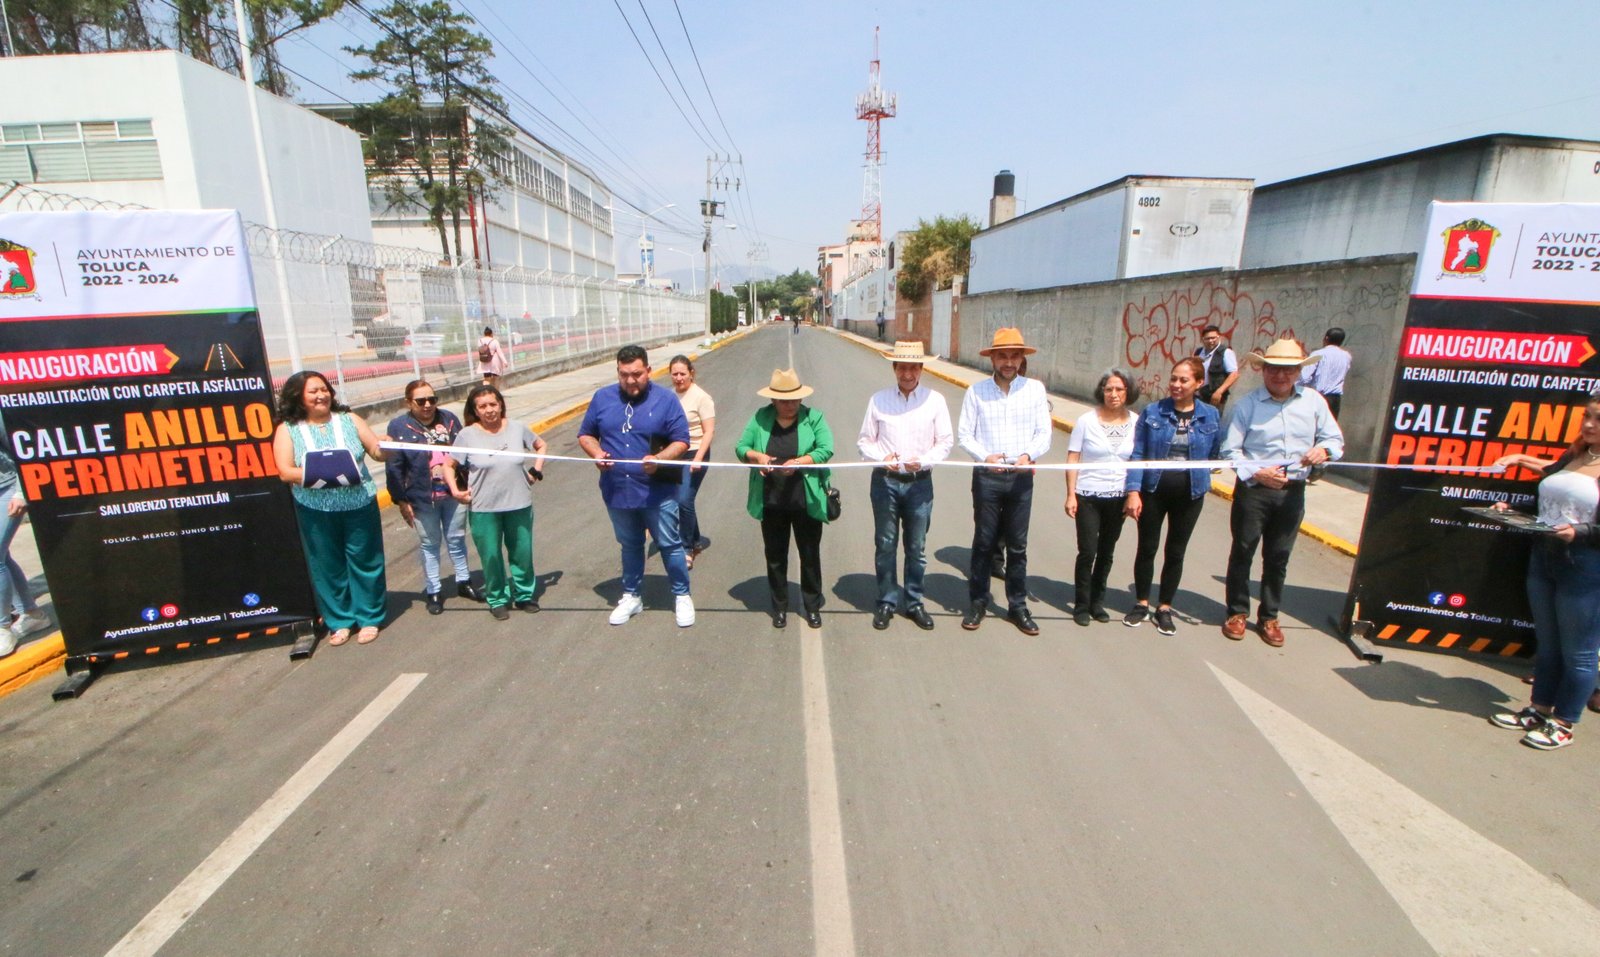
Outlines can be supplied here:
[[822, 632], [800, 623], [800, 693], [805, 701], [806, 815], [811, 824], [811, 930], [818, 957], [854, 957], [845, 871], [845, 827], [838, 818], [838, 770], [827, 711]]

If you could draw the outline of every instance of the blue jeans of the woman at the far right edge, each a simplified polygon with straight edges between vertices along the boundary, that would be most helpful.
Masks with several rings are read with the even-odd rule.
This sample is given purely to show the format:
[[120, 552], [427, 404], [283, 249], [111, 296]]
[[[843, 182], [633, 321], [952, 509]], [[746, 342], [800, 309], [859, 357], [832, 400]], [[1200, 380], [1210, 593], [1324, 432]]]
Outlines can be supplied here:
[[1600, 661], [1600, 549], [1538, 543], [1528, 562], [1528, 605], [1539, 642], [1533, 703], [1578, 723]]

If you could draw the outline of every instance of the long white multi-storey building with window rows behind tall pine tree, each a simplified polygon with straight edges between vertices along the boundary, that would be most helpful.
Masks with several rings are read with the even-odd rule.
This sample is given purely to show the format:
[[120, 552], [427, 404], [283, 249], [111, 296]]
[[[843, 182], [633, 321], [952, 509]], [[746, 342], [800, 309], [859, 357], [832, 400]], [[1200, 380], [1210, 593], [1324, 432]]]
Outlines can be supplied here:
[[[350, 104], [310, 109], [357, 123]], [[563, 275], [614, 278], [611, 190], [586, 166], [506, 120], [510, 154], [491, 166], [501, 176], [494, 197], [474, 197], [462, 218], [462, 258], [491, 267], [517, 266]], [[365, 187], [379, 243], [429, 250], [446, 261], [438, 230], [419, 206], [394, 206], [381, 184]]]

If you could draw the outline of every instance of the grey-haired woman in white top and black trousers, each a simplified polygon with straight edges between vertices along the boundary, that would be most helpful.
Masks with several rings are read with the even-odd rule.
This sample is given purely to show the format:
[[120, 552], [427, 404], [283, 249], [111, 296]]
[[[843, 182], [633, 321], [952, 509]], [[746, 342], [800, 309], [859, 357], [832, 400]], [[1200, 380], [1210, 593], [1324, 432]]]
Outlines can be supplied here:
[[[1096, 406], [1078, 416], [1067, 443], [1067, 462], [1125, 462], [1133, 453], [1134, 414], [1128, 406], [1139, 397], [1133, 376], [1114, 368], [1094, 386]], [[1114, 469], [1067, 469], [1067, 515], [1078, 528], [1077, 592], [1072, 619], [1078, 624], [1110, 621], [1106, 613], [1106, 579], [1112, 554], [1122, 538], [1123, 490], [1126, 472]]]

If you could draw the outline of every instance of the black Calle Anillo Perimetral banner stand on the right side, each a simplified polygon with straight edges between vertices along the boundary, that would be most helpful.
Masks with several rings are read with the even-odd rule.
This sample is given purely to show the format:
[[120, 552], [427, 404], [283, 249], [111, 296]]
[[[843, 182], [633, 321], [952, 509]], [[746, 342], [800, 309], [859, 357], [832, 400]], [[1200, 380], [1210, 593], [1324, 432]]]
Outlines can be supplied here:
[[1533, 655], [1525, 570], [1546, 531], [1482, 512], [1533, 512], [1541, 475], [1474, 469], [1558, 459], [1597, 390], [1600, 203], [1435, 202], [1379, 443], [1386, 464], [1426, 469], [1368, 490], [1341, 623], [1358, 656]]

